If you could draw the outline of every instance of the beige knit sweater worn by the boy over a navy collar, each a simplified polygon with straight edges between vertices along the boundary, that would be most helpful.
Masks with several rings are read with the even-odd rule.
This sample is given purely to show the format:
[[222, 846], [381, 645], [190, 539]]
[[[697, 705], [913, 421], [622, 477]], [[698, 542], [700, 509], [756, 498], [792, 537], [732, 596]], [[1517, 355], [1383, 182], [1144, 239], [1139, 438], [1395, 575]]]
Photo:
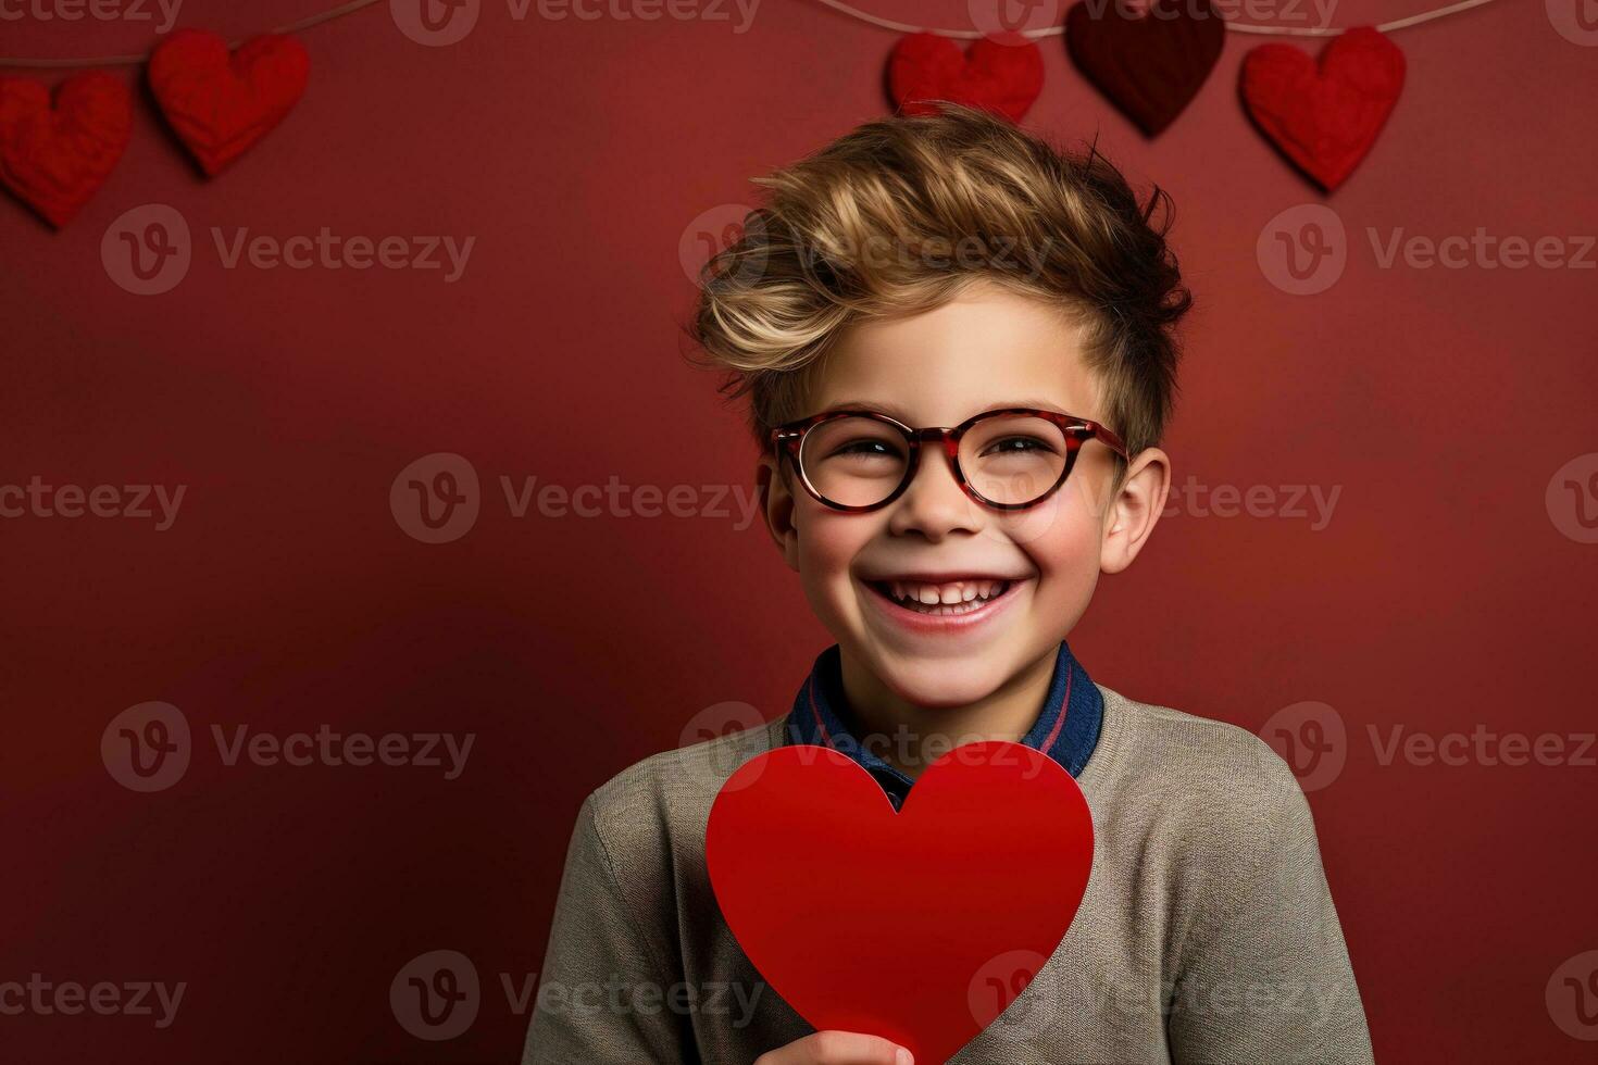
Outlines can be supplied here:
[[[951, 1063], [1371, 1062], [1288, 766], [1248, 731], [1098, 687], [1103, 731], [1077, 778], [1096, 837], [1082, 907]], [[583, 802], [523, 1065], [751, 1065], [812, 1031], [738, 948], [705, 873], [711, 800], [785, 725], [646, 758]]]

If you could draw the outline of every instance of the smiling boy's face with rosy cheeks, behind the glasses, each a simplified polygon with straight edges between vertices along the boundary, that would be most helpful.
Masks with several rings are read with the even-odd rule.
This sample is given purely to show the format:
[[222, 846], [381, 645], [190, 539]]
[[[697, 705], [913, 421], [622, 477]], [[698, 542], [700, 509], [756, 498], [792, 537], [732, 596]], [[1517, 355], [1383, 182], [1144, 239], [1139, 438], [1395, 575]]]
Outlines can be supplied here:
[[[809, 409], [865, 407], [909, 426], [954, 426], [996, 407], [1039, 407], [1103, 422], [1075, 331], [1048, 307], [973, 286], [935, 310], [861, 323], [826, 356]], [[1109, 426], [1119, 430], [1120, 426]], [[767, 522], [805, 597], [847, 661], [925, 707], [976, 703], [1048, 655], [1075, 626], [1099, 572], [1125, 568], [1165, 508], [1170, 469], [1133, 457], [1115, 498], [1115, 455], [1083, 444], [1058, 492], [1024, 511], [996, 511], [959, 487], [941, 449], [922, 447], [912, 482], [868, 513], [836, 511], [762, 458]], [[938, 584], [911, 608], [890, 592]], [[992, 592], [968, 599], [967, 588]]]

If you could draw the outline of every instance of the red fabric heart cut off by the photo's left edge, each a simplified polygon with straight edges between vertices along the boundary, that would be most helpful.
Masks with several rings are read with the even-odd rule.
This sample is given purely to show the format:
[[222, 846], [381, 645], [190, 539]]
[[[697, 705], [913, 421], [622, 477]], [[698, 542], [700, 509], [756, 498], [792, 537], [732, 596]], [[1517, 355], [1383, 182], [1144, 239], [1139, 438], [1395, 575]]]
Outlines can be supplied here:
[[80, 73], [56, 89], [0, 78], [0, 184], [61, 228], [88, 203], [128, 147], [133, 104], [109, 73]]

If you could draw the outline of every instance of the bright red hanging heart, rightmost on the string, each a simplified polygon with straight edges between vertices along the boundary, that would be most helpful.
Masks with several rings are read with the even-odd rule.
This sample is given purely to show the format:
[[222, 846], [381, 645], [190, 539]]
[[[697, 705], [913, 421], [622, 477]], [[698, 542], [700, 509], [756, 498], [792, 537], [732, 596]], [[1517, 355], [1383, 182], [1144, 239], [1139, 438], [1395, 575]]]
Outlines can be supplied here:
[[1320, 64], [1291, 45], [1243, 57], [1240, 89], [1261, 131], [1331, 192], [1371, 150], [1403, 91], [1403, 53], [1369, 26], [1339, 34]]

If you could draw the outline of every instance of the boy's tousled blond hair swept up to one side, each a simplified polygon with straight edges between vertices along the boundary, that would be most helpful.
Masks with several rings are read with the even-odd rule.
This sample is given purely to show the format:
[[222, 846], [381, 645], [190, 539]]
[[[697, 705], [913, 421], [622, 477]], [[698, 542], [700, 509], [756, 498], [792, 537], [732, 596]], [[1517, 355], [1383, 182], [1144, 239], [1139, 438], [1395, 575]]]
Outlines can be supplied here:
[[1079, 323], [1103, 420], [1133, 455], [1159, 444], [1171, 327], [1192, 307], [1159, 185], [1139, 204], [1095, 145], [1072, 153], [948, 102], [865, 123], [754, 182], [767, 204], [705, 263], [687, 334], [730, 372], [724, 391], [749, 396], [762, 447], [805, 414], [810, 374], [850, 324], [932, 310], [978, 279]]

